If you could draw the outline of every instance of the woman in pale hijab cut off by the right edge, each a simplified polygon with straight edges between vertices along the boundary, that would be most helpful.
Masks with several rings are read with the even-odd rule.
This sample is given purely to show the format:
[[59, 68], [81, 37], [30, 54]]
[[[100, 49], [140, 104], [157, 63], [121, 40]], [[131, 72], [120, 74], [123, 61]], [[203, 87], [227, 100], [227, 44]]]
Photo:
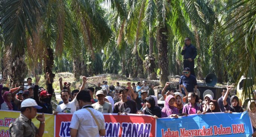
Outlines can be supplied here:
[[253, 137], [256, 137], [256, 103], [248, 102], [248, 113], [251, 119], [251, 125], [253, 126]]

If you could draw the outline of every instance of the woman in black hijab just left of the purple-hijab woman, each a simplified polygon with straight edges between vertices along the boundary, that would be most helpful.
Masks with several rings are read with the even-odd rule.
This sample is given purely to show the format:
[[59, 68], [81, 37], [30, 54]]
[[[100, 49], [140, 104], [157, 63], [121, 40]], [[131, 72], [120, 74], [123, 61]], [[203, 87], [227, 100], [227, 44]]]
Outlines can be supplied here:
[[146, 109], [144, 114], [154, 116], [154, 118], [161, 118], [161, 108], [155, 106], [155, 99], [149, 96], [145, 99]]

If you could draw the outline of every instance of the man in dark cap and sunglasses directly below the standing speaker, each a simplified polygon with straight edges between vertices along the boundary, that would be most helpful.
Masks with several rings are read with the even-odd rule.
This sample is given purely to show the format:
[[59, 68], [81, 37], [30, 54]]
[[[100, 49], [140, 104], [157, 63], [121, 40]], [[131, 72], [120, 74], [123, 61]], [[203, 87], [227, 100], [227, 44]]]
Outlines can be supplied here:
[[[197, 79], [194, 75], [190, 75], [190, 69], [184, 68], [183, 72], [184, 75], [180, 77], [179, 91], [181, 92], [181, 85], [184, 85], [186, 87], [187, 92], [197, 91]], [[182, 91], [182, 93], [186, 95], [184, 90]]]

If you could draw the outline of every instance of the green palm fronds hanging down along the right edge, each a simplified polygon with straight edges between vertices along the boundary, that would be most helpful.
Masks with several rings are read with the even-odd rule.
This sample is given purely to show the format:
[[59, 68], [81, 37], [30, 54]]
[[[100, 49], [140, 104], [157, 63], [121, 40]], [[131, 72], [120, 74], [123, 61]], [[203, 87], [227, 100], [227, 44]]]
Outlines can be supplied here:
[[233, 70], [232, 74], [239, 73], [237, 81], [242, 75], [246, 77], [243, 99], [251, 99], [256, 83], [256, 1], [232, 1], [222, 12], [229, 15], [222, 25], [222, 36], [228, 38], [225, 51], [231, 60], [230, 69]]

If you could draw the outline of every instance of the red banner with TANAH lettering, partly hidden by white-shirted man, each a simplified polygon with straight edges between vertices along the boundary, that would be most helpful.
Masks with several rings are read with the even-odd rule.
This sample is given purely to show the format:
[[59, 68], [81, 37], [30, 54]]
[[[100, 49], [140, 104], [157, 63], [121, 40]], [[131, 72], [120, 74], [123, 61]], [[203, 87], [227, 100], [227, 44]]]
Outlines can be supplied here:
[[[70, 137], [72, 114], [57, 114], [55, 117], [55, 137]], [[154, 137], [155, 119], [147, 115], [104, 114], [105, 137]]]

